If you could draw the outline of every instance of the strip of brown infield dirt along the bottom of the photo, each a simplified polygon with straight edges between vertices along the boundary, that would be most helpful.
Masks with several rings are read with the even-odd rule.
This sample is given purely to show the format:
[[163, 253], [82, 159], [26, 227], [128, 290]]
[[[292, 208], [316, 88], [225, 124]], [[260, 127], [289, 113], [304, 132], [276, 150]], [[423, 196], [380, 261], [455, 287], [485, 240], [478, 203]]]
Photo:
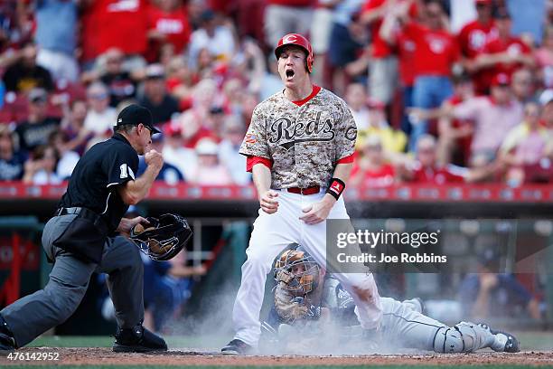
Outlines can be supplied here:
[[[34, 360], [26, 360], [33, 357]], [[36, 360], [38, 354], [58, 354], [58, 361]], [[214, 352], [172, 350], [167, 353], [116, 354], [109, 348], [24, 348], [17, 351], [18, 360], [0, 358], [0, 367], [10, 364], [61, 365], [553, 365], [553, 352], [498, 354], [492, 352], [458, 355], [355, 355], [355, 356], [222, 356]]]

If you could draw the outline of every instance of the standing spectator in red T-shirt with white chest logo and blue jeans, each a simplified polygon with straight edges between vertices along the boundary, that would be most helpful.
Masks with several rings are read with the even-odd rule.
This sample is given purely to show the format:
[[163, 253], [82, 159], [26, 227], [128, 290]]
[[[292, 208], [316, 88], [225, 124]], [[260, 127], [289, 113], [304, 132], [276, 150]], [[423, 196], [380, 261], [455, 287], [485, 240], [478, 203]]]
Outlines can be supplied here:
[[[432, 109], [439, 107], [453, 94], [450, 76], [459, 59], [459, 47], [455, 37], [447, 31], [447, 19], [441, 2], [429, 1], [425, 11], [426, 24], [411, 22], [402, 26], [402, 33], [410, 35], [416, 46], [413, 105]], [[426, 133], [427, 126], [426, 120], [413, 125], [409, 141], [411, 151], [416, 150], [418, 137]]]

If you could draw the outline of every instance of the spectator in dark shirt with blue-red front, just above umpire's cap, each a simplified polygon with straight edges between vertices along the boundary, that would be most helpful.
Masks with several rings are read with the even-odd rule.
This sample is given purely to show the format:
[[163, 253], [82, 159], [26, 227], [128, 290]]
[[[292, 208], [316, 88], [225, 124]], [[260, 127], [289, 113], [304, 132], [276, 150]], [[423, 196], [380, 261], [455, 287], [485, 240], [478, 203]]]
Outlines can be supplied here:
[[105, 62], [105, 71], [99, 80], [108, 86], [109, 105], [115, 108], [123, 100], [134, 99], [139, 75], [137, 71], [126, 71], [123, 68], [125, 54], [117, 48], [111, 48], [101, 57]]

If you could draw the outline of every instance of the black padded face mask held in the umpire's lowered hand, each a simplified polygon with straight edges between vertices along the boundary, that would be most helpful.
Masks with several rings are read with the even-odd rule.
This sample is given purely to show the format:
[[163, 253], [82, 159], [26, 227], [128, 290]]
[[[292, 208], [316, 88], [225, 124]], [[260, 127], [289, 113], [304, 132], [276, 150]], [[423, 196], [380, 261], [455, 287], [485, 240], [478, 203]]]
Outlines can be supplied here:
[[130, 239], [138, 249], [152, 260], [169, 260], [178, 254], [192, 238], [192, 230], [186, 220], [177, 214], [163, 214], [159, 219], [146, 218], [150, 224], [136, 224]]

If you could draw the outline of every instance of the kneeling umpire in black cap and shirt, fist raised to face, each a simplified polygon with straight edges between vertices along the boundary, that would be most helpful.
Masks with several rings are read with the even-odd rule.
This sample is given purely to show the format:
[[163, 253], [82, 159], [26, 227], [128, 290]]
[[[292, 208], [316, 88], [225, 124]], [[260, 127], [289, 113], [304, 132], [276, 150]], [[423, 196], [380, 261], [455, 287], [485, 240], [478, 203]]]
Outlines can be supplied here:
[[[122, 219], [129, 204], [145, 198], [163, 166], [150, 149], [159, 133], [148, 109], [130, 105], [117, 117], [115, 134], [81, 157], [59, 209], [42, 232], [42, 247], [54, 262], [46, 287], [0, 311], [0, 350], [23, 347], [67, 320], [79, 306], [93, 272], [108, 273], [116, 308], [116, 352], [165, 351], [164, 339], [142, 326], [143, 264], [129, 232], [142, 217]], [[135, 178], [138, 156], [147, 168]]]

